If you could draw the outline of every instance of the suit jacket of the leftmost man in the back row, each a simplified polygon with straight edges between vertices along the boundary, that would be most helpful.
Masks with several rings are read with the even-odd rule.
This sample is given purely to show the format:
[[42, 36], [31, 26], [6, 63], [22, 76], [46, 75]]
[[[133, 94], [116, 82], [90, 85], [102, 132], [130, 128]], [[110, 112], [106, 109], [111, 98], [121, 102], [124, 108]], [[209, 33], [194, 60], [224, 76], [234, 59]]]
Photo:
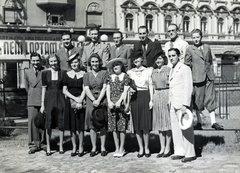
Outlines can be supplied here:
[[68, 65], [68, 57], [70, 55], [73, 55], [75, 53], [79, 53], [80, 57], [82, 56], [82, 49], [79, 48], [79, 47], [73, 47], [71, 50], [70, 50], [70, 54], [68, 55], [68, 53], [66, 52], [66, 49], [63, 47], [61, 49], [59, 49], [57, 52], [56, 52], [56, 55], [59, 57], [60, 59], [60, 68], [62, 70], [71, 70], [71, 68], [69, 67]]

